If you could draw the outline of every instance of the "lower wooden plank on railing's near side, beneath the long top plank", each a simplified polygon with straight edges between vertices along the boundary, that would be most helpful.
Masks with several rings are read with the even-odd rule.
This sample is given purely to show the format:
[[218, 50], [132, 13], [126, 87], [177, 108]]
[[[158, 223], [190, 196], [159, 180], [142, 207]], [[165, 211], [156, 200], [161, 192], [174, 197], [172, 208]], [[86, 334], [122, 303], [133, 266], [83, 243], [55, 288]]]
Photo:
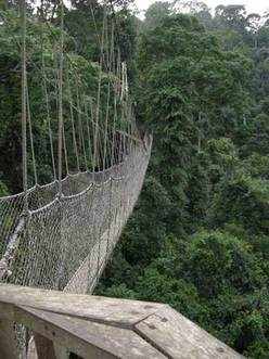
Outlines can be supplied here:
[[[85, 359], [165, 358], [157, 349], [128, 329], [94, 323], [81, 318], [27, 307], [17, 308], [16, 316], [17, 320], [27, 328], [40, 333], [41, 343], [39, 343], [39, 348], [44, 343], [42, 338], [47, 337], [46, 350], [48, 347], [51, 348], [48, 343], [54, 342], [55, 347], [65, 347], [67, 352], [77, 354]], [[38, 358], [50, 359], [46, 356], [46, 350], [43, 350], [44, 356], [38, 356]], [[57, 351], [59, 354], [63, 356], [63, 350]], [[53, 350], [51, 359], [54, 358], [56, 356]]]

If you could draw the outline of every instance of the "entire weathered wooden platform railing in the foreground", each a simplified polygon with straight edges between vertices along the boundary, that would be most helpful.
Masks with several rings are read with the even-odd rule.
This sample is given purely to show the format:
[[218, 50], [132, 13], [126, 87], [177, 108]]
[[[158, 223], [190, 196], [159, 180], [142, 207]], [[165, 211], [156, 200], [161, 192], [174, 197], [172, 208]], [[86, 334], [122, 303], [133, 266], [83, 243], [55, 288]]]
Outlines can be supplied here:
[[167, 305], [0, 285], [0, 358], [17, 358], [14, 323], [30, 331], [27, 359], [242, 358]]

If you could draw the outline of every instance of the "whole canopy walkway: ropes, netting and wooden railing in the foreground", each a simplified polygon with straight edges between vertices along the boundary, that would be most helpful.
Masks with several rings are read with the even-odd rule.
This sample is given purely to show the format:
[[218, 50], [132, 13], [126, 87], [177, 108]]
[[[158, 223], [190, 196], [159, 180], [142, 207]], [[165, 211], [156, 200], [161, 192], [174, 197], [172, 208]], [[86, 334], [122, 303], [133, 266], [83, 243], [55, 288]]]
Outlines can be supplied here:
[[136, 124], [112, 1], [99, 23], [89, 2], [94, 63], [66, 51], [63, 0], [57, 27], [42, 0], [31, 20], [20, 4], [22, 184], [0, 197], [0, 358], [240, 358], [169, 306], [88, 295], [139, 197], [152, 137]]

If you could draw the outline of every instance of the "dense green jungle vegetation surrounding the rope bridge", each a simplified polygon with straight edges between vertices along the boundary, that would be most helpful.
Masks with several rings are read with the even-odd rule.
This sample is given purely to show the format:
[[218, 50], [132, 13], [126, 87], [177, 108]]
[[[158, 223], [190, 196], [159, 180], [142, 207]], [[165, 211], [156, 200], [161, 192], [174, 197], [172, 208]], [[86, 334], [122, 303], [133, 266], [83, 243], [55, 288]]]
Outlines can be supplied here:
[[[102, 5], [71, 2], [67, 50], [94, 80], [89, 3]], [[137, 208], [97, 293], [167, 303], [245, 356], [268, 358], [269, 14], [219, 5], [213, 15], [196, 1], [185, 3], [185, 14], [180, 1], [157, 1], [141, 21], [132, 1], [114, 2], [138, 123], [153, 132], [154, 145]], [[17, 190], [22, 169], [14, 3], [1, 9], [9, 22], [0, 26], [0, 194]], [[56, 31], [59, 2], [43, 3]], [[36, 46], [38, 31], [37, 22]], [[35, 56], [41, 61], [38, 50]], [[39, 116], [33, 120], [41, 133]]]

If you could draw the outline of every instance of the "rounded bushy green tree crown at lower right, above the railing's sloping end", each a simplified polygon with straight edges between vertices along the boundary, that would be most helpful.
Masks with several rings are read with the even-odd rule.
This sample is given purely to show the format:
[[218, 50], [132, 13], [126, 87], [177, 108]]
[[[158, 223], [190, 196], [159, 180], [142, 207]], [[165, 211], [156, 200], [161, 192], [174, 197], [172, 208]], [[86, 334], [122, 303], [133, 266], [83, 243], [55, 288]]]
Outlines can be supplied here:
[[207, 298], [227, 289], [248, 293], [265, 283], [252, 247], [230, 233], [196, 233], [188, 246], [183, 268], [198, 293]]

